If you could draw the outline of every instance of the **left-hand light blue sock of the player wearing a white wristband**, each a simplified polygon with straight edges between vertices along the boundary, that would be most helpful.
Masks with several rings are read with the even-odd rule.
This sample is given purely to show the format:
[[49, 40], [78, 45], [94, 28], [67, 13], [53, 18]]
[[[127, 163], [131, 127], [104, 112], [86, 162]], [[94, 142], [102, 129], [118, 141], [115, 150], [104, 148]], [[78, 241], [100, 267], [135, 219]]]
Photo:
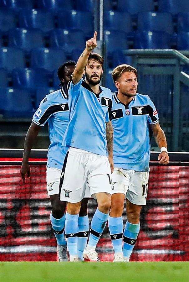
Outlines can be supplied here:
[[109, 217], [108, 226], [115, 253], [122, 253], [123, 219], [122, 217]]

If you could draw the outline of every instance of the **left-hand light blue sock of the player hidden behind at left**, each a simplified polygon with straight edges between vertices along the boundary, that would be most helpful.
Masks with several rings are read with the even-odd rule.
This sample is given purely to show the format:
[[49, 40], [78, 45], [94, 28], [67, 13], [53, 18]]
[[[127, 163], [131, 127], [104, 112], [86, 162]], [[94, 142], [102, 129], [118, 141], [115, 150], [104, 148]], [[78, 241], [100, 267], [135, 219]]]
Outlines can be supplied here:
[[50, 213], [50, 221], [58, 245], [66, 245], [66, 240], [64, 238], [65, 220], [65, 214], [60, 219], [56, 219], [52, 216], [52, 212]]

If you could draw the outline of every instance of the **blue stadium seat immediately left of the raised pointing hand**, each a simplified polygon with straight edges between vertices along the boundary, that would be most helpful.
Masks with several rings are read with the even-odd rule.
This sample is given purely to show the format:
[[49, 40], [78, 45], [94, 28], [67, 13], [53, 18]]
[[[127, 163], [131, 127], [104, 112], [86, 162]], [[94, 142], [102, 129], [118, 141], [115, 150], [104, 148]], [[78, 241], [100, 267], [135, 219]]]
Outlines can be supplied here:
[[85, 47], [85, 35], [82, 30], [54, 29], [50, 33], [52, 48], [63, 48], [64, 52], [71, 53], [74, 49]]

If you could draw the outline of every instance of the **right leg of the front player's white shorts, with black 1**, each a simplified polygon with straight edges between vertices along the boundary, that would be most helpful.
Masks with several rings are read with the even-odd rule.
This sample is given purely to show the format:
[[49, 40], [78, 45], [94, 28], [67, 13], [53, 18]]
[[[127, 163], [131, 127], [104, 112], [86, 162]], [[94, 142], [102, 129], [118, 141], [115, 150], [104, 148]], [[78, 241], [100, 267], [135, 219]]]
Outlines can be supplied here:
[[90, 195], [93, 197], [96, 193], [111, 194], [111, 169], [106, 156], [92, 156], [87, 184], [89, 185]]

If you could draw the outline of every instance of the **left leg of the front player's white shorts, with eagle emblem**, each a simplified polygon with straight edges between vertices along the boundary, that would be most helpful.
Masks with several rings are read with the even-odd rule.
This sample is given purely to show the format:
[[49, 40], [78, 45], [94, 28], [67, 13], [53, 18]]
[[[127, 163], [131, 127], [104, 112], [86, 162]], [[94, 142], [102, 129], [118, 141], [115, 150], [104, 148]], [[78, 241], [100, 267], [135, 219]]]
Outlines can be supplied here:
[[78, 203], [84, 198], [87, 173], [82, 157], [82, 154], [69, 151], [65, 157], [59, 188], [61, 201]]

